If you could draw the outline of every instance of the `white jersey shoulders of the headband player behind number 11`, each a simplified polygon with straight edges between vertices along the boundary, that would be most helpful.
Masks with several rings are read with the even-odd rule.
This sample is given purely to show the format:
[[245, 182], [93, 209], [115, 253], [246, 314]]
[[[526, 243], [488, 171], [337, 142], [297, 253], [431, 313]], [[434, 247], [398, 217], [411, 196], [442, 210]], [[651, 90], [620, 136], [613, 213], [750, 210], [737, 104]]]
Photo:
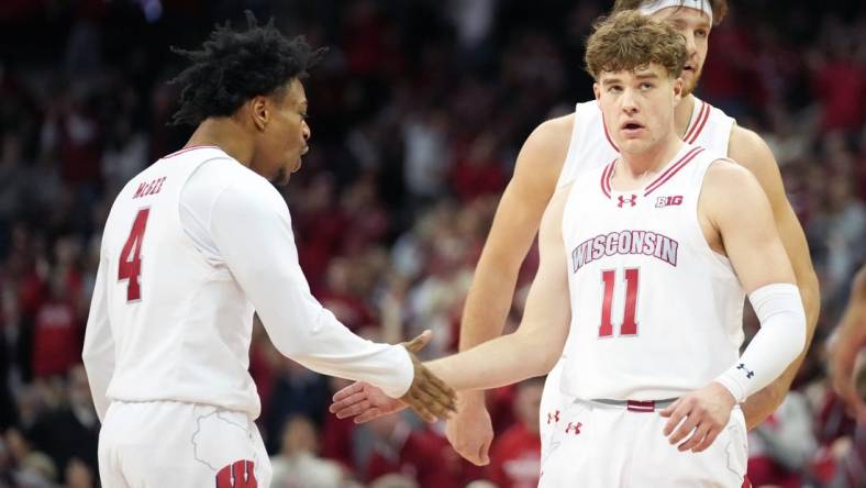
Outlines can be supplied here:
[[[713, 154], [726, 155], [733, 124], [732, 118], [696, 97], [684, 141], [706, 147]], [[608, 132], [598, 102], [578, 103], [568, 154], [556, 188], [570, 184], [582, 171], [610, 163], [618, 154], [619, 148]]]

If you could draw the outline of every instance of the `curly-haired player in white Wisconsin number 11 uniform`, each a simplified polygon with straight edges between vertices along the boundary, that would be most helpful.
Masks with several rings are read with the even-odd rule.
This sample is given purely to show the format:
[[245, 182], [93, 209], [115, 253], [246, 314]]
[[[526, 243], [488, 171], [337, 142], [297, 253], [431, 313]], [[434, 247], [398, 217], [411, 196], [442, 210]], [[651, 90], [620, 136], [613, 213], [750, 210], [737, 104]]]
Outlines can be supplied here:
[[[687, 54], [669, 25], [617, 13], [586, 57], [621, 154], [554, 193], [518, 331], [428, 365], [458, 390], [493, 388], [547, 373], [565, 345], [575, 400], [540, 486], [741, 486], [736, 404], [807, 333], [769, 202], [748, 170], [676, 133]], [[762, 328], [740, 356], [744, 291]]]

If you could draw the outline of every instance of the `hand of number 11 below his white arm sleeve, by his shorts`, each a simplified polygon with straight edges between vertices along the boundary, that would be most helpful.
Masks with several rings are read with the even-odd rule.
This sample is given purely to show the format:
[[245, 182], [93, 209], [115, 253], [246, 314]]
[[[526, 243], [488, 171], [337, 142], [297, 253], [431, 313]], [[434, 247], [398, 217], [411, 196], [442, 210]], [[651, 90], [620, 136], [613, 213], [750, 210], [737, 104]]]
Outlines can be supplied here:
[[[677, 399], [659, 414], [668, 418], [664, 434], [680, 452], [700, 453], [722, 432], [736, 400], [715, 381]], [[676, 430], [675, 430], [676, 429]], [[689, 436], [691, 434], [691, 436]], [[688, 436], [688, 440], [680, 443]]]

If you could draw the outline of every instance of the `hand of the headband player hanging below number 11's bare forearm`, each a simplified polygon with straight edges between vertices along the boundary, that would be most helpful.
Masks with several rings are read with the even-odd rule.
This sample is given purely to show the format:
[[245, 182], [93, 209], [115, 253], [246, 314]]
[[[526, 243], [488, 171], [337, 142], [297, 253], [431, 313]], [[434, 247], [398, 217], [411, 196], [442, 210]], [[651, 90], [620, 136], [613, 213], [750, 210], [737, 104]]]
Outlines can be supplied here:
[[482, 391], [460, 392], [457, 413], [445, 424], [445, 436], [454, 451], [476, 466], [490, 464], [493, 424]]

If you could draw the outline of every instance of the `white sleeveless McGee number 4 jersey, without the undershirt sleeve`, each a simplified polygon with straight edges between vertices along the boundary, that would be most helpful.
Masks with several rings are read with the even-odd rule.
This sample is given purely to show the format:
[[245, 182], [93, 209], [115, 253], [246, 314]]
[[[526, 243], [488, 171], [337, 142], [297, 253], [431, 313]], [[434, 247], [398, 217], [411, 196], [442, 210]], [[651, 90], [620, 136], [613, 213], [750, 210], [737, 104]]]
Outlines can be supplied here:
[[187, 179], [214, 159], [231, 160], [215, 147], [166, 156], [111, 208], [102, 236], [116, 358], [108, 397], [209, 403], [255, 418], [253, 306], [225, 266], [208, 264], [180, 220]]

